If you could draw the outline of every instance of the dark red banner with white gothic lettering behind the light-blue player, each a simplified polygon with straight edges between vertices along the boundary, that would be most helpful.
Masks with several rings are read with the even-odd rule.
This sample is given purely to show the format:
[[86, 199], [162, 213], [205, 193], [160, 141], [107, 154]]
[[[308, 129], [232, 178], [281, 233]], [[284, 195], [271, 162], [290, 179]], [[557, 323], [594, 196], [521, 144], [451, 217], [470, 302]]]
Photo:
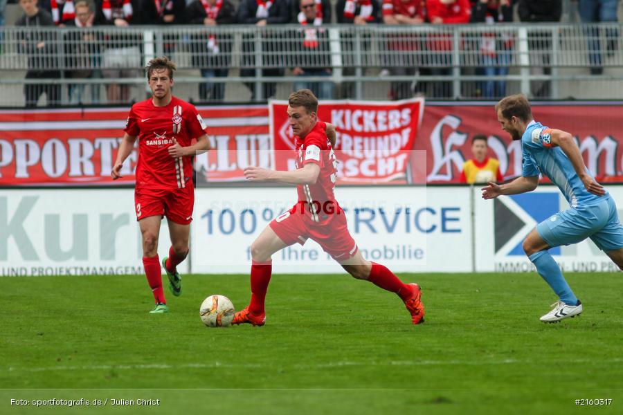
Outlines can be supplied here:
[[[623, 181], [623, 104], [533, 104], [543, 125], [568, 131], [577, 139], [586, 167], [597, 181]], [[426, 170], [414, 166], [414, 183], [459, 183], [462, 165], [471, 158], [471, 138], [488, 137], [489, 156], [500, 160], [505, 179], [521, 175], [521, 143], [498, 122], [494, 104], [427, 105], [415, 149], [426, 151]]]

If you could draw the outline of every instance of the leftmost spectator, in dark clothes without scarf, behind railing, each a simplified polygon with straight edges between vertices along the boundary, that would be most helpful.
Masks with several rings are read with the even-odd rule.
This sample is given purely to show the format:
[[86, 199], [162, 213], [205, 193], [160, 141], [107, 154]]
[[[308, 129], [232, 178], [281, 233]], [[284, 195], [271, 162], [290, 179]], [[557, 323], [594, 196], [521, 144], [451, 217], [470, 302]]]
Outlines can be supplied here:
[[[54, 26], [52, 16], [46, 10], [39, 8], [37, 0], [19, 0], [24, 16], [17, 20], [16, 26], [26, 28], [39, 28]], [[21, 33], [19, 50], [28, 55], [28, 72], [26, 80], [32, 79], [57, 79], [60, 71], [53, 70], [57, 66], [57, 55], [51, 39], [37, 30], [25, 30]], [[24, 97], [26, 108], [37, 107], [37, 102], [43, 93], [46, 93], [48, 106], [56, 106], [60, 103], [60, 85], [49, 82], [42, 84], [24, 84]]]

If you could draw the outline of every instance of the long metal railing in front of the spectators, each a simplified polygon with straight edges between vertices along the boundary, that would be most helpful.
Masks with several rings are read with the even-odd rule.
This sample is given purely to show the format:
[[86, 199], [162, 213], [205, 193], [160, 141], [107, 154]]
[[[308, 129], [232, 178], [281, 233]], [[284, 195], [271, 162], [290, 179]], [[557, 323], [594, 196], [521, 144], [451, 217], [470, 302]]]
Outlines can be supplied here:
[[[195, 101], [260, 102], [287, 98], [300, 86], [324, 99], [417, 93], [497, 99], [520, 91], [532, 98], [614, 99], [623, 91], [622, 30], [619, 24], [5, 27], [0, 105], [24, 105], [26, 89], [46, 91], [53, 104], [141, 100], [142, 68], [159, 55], [177, 63], [176, 95]], [[297, 66], [304, 75], [292, 74]], [[126, 91], [111, 102], [113, 88]]]

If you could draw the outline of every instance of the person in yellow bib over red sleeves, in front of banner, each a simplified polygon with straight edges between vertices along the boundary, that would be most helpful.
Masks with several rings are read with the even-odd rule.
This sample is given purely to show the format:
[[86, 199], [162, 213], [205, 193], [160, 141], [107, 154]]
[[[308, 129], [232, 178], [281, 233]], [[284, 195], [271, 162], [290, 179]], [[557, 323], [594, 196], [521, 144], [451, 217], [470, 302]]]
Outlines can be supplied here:
[[471, 139], [471, 156], [463, 164], [463, 170], [459, 181], [461, 183], [489, 183], [491, 181], [501, 183], [504, 181], [500, 173], [500, 162], [495, 158], [487, 157], [489, 146], [487, 136], [476, 134]]

